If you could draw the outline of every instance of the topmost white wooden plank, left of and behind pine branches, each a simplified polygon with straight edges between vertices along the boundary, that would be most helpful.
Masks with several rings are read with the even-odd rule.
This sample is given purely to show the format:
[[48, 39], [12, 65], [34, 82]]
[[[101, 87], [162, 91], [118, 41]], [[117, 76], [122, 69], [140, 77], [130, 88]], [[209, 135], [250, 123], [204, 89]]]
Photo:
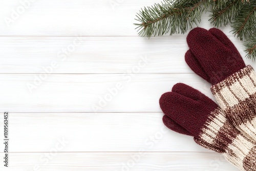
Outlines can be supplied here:
[[[25, 0], [21, 2], [27, 2]], [[161, 1], [66, 0], [1, 1], [0, 35], [34, 36], [137, 36], [136, 13]], [[208, 14], [199, 26], [213, 27]], [[228, 35], [230, 28], [223, 29]]]

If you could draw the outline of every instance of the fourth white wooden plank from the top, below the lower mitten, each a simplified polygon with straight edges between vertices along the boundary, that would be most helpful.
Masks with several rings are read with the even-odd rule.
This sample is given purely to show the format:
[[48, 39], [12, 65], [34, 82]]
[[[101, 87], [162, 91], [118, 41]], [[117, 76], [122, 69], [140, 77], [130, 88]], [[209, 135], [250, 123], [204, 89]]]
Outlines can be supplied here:
[[[162, 113], [9, 113], [10, 152], [201, 152]], [[0, 114], [0, 124], [3, 123]], [[2, 136], [1, 136], [2, 137]], [[4, 144], [0, 144], [4, 149]]]

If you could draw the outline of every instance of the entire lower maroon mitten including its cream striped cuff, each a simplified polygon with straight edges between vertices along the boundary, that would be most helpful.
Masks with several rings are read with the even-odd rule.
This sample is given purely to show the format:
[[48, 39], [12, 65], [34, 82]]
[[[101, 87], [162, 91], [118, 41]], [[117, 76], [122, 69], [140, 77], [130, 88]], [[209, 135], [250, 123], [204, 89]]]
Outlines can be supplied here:
[[167, 127], [194, 136], [196, 143], [222, 153], [241, 170], [256, 169], [255, 142], [235, 129], [218, 105], [204, 94], [178, 83], [172, 92], [161, 96], [159, 103]]

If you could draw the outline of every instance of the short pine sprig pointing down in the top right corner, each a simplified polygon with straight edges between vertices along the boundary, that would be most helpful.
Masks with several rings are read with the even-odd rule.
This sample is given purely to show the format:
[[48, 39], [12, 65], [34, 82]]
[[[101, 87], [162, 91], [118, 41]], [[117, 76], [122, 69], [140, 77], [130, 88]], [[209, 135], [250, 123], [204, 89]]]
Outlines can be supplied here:
[[237, 15], [232, 23], [232, 32], [241, 40], [249, 38], [254, 34], [256, 23], [256, 1], [252, 1], [250, 4], [244, 4], [239, 15]]

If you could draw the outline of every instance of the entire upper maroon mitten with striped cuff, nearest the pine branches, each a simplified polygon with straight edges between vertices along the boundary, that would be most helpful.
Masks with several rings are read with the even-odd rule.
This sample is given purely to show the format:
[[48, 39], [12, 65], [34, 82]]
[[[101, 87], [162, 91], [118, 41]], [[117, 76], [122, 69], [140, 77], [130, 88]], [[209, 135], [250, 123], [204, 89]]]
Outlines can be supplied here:
[[256, 74], [219, 29], [196, 28], [189, 32], [188, 66], [214, 84], [214, 94], [231, 123], [256, 141]]

